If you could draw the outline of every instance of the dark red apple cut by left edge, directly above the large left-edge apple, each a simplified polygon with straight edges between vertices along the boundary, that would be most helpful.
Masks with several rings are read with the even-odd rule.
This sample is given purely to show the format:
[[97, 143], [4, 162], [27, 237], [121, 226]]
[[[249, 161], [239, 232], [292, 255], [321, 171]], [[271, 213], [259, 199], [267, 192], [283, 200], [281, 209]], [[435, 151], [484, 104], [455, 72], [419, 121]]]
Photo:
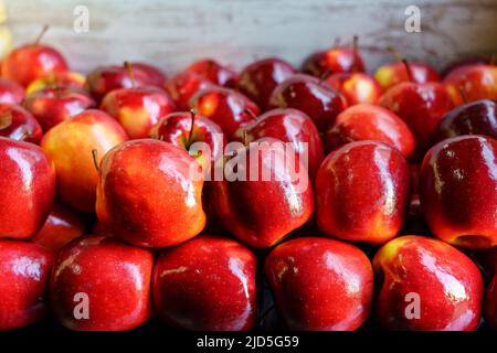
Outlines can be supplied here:
[[15, 104], [0, 103], [0, 136], [38, 145], [43, 131], [31, 113]]

